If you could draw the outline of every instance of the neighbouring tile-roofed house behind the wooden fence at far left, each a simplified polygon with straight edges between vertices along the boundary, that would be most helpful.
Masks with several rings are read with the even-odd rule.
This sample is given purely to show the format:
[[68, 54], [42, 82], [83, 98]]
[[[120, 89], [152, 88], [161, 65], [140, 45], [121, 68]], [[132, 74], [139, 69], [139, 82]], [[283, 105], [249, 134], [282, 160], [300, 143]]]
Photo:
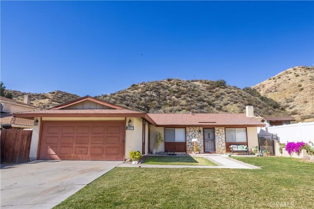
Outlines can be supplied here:
[[24, 103], [5, 97], [0, 97], [1, 128], [2, 129], [31, 129], [34, 120], [14, 117], [13, 113], [22, 111], [34, 111], [36, 106], [30, 104], [30, 95], [25, 95]]

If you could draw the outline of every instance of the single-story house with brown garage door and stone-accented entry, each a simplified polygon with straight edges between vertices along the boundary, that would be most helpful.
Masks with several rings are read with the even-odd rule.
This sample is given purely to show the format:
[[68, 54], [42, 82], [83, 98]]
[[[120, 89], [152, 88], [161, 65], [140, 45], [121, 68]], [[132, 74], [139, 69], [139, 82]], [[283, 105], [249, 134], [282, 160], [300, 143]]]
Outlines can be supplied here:
[[47, 110], [15, 113], [38, 121], [30, 160], [124, 160], [131, 151], [148, 154], [157, 131], [165, 141], [158, 151], [192, 153], [193, 138], [201, 153], [230, 152], [230, 144], [258, 146], [253, 106], [246, 114], [148, 114], [85, 96]]

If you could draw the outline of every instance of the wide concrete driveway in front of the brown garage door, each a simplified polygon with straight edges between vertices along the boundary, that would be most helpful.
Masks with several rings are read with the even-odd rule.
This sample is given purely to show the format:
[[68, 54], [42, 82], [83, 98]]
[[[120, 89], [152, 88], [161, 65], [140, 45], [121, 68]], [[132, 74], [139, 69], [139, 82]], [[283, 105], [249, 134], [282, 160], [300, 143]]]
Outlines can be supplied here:
[[2, 167], [1, 209], [50, 209], [120, 163], [36, 160]]

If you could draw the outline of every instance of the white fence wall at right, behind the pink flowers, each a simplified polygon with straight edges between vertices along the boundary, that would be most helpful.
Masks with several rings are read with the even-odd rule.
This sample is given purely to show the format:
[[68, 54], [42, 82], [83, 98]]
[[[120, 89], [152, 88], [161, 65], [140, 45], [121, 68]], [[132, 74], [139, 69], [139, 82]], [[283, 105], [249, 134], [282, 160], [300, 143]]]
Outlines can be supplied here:
[[281, 143], [314, 142], [314, 122], [262, 127], [257, 131], [258, 133], [277, 133], [278, 141]]

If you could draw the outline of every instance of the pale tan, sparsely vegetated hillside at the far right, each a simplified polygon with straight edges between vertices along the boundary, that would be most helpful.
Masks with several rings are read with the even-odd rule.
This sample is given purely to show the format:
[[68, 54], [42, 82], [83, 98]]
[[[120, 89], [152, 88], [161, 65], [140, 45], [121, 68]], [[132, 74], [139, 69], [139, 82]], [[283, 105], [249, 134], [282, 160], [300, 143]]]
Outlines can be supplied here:
[[314, 67], [289, 68], [252, 88], [280, 103], [298, 120], [314, 117]]

